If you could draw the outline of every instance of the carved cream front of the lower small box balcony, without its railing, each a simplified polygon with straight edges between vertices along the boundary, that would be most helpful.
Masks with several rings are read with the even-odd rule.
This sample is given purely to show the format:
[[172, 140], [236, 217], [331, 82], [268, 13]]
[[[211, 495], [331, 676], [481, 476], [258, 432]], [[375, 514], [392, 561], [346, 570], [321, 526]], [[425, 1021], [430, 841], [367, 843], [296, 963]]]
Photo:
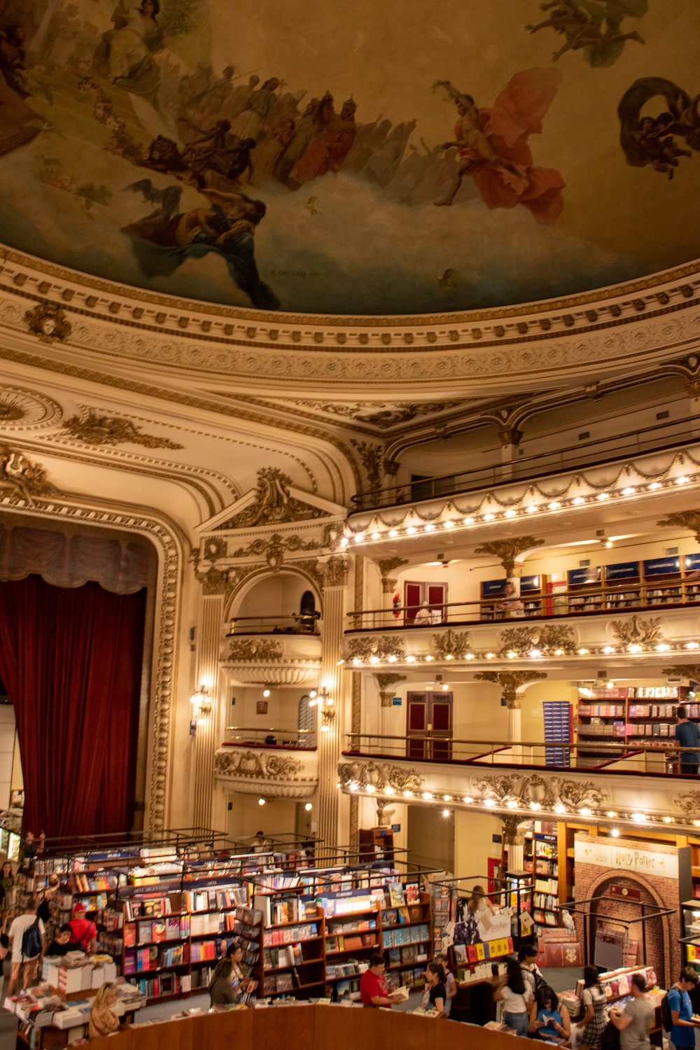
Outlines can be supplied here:
[[214, 776], [243, 795], [305, 798], [318, 786], [317, 756], [225, 744], [214, 754]]

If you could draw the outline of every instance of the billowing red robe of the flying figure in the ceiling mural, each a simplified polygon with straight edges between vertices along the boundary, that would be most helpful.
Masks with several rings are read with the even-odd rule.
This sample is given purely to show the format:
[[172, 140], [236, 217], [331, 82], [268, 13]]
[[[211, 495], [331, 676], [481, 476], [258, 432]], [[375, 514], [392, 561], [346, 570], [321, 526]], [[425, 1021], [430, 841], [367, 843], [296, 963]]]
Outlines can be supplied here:
[[[460, 155], [472, 159], [466, 172], [471, 175], [488, 208], [529, 208], [538, 223], [552, 226], [561, 214], [566, 186], [556, 168], [539, 168], [532, 163], [528, 136], [542, 132], [542, 120], [550, 107], [561, 75], [555, 69], [526, 69], [516, 74], [495, 100], [492, 109], [479, 110], [479, 129], [504, 161], [510, 161], [522, 176], [487, 161], [479, 149], [465, 146]], [[463, 121], [467, 127], [463, 133]], [[454, 125], [454, 138], [463, 140], [471, 127], [469, 116]]]

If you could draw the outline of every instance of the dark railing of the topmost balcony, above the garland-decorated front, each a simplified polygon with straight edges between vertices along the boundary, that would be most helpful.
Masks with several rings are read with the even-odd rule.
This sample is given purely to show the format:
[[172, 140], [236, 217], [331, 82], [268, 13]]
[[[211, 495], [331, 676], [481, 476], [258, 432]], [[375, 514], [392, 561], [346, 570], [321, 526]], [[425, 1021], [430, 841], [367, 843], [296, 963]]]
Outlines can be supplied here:
[[[564, 448], [551, 452], [521, 456], [516, 460], [505, 462], [497, 460], [486, 466], [461, 470], [459, 474], [424, 478], [420, 481], [406, 482], [403, 485], [373, 488], [352, 498], [353, 506], [349, 513], [389, 507], [395, 504], [418, 503], [439, 497], [457, 496], [460, 492], [469, 492], [500, 482], [527, 481], [549, 474], [558, 474], [567, 467], [593, 467], [624, 456], [675, 448], [687, 444], [688, 441], [697, 440], [693, 435], [693, 429], [697, 426], [697, 416], [685, 416], [683, 419], [669, 420], [666, 423], [656, 423], [654, 426], [628, 430], [624, 434], [591, 441], [577, 441], [575, 445], [566, 445]], [[672, 432], [678, 433], [672, 434]], [[659, 443], [659, 439], [663, 437], [667, 439], [674, 437], [676, 440]]]

